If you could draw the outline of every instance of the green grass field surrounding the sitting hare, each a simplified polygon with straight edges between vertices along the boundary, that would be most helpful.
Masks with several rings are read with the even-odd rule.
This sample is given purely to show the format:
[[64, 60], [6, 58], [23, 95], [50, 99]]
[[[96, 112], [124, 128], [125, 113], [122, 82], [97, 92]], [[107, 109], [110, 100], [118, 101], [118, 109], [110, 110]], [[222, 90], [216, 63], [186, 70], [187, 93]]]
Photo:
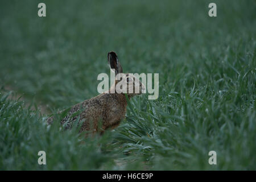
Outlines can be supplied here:
[[[256, 169], [255, 1], [214, 1], [216, 18], [212, 1], [44, 1], [46, 18], [39, 2], [0, 2], [0, 169]], [[6, 97], [55, 113], [96, 96], [109, 51], [125, 72], [159, 73], [159, 98], [134, 97], [103, 137]]]

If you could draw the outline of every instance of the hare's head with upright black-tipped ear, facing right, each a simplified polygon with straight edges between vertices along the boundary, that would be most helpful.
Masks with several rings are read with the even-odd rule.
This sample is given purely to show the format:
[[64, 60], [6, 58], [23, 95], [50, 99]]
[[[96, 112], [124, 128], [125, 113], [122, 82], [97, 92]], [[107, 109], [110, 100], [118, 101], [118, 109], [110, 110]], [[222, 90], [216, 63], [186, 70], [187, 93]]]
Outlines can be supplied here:
[[112, 71], [115, 72], [115, 84], [110, 90], [114, 89], [114, 93], [127, 93], [129, 97], [146, 93], [146, 88], [139, 78], [131, 73], [123, 73], [123, 68], [115, 52], [108, 53], [108, 62]]

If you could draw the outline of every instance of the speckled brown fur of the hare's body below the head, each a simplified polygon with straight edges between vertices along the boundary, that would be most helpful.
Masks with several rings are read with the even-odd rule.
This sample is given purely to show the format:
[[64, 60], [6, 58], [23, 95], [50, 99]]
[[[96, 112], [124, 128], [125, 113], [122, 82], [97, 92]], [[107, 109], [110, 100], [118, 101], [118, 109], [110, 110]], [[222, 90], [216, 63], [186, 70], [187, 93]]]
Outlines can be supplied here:
[[[73, 122], [79, 118], [79, 123], [83, 122], [80, 131], [92, 130], [97, 132], [109, 127], [117, 127], [122, 119], [125, 118], [127, 101], [125, 94], [118, 93], [102, 93], [96, 97], [85, 100], [75, 106], [72, 106], [68, 114], [61, 120], [61, 124], [65, 123], [67, 129], [73, 126]], [[81, 111], [73, 117], [72, 114]], [[47, 119], [48, 123], [52, 123], [53, 117]], [[99, 125], [100, 123], [100, 127]]]

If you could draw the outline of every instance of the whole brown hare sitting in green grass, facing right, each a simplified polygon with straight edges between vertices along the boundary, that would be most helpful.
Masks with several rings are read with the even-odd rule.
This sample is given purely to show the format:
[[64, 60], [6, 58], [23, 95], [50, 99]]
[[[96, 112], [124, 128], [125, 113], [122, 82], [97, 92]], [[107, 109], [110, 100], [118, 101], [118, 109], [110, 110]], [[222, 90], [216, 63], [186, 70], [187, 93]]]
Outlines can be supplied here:
[[[102, 134], [108, 128], [113, 129], [117, 127], [121, 120], [125, 118], [127, 106], [125, 93], [117, 92], [115, 85], [117, 85], [118, 82], [127, 85], [127, 90], [130, 88], [133, 89], [133, 91], [135, 85], [139, 85], [139, 93], [127, 92], [129, 99], [145, 92], [145, 86], [134, 76], [122, 74], [121, 79], [117, 79], [118, 73], [122, 73], [123, 69], [115, 52], [108, 53], [108, 63], [110, 68], [115, 71], [115, 84], [113, 84], [107, 92], [76, 104], [68, 111], [66, 110], [67, 115], [61, 120], [61, 124], [65, 123], [66, 129], [71, 128], [75, 121], [79, 121], [81, 124], [80, 132], [92, 131], [93, 133], [99, 132]], [[60, 111], [60, 113], [63, 113], [63, 111]], [[54, 116], [48, 118], [47, 123], [52, 123], [53, 119]]]

